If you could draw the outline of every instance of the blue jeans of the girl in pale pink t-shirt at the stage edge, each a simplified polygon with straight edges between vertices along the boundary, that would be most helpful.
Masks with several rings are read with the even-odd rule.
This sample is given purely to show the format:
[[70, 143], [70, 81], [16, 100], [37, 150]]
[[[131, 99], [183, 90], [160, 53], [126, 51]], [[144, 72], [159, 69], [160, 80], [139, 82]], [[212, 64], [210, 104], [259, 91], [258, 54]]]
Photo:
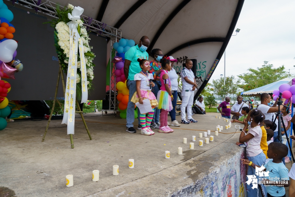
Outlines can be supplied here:
[[[248, 160], [253, 162], [255, 165], [259, 165], [262, 166], [265, 164], [265, 159], [266, 156], [263, 152], [261, 152], [260, 154], [256, 155], [255, 157], [248, 157]], [[255, 169], [252, 168], [251, 166], [248, 167], [248, 172], [247, 175], [255, 175]], [[257, 176], [258, 179], [258, 176]], [[259, 187], [258, 187], [259, 188]], [[263, 190], [263, 192], [266, 194], [266, 188], [264, 185], [261, 185], [261, 188]], [[252, 189], [252, 185], [248, 185], [246, 184], [246, 191], [247, 191], [247, 196], [251, 196], [251, 197], [257, 197], [258, 196], [258, 189], [254, 188]]]

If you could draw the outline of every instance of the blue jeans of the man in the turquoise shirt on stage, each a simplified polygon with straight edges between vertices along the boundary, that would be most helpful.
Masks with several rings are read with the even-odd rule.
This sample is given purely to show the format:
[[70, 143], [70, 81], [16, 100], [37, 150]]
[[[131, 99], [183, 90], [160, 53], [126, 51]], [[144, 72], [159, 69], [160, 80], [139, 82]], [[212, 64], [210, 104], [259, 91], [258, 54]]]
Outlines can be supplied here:
[[[130, 127], [133, 127], [133, 122], [134, 122], [134, 106], [135, 106], [135, 103], [131, 102], [131, 98], [134, 94], [134, 92], [136, 92], [136, 81], [134, 80], [127, 80], [127, 86], [128, 86], [128, 89], [129, 89], [129, 102], [128, 102], [128, 105], [127, 105], [127, 109], [126, 109], [126, 113], [127, 113], [127, 116], [126, 116], [126, 127], [127, 128], [130, 128]], [[140, 115], [140, 111], [139, 109], [137, 108], [137, 119], [138, 119], [138, 122], [140, 123], [139, 121], [139, 115]]]

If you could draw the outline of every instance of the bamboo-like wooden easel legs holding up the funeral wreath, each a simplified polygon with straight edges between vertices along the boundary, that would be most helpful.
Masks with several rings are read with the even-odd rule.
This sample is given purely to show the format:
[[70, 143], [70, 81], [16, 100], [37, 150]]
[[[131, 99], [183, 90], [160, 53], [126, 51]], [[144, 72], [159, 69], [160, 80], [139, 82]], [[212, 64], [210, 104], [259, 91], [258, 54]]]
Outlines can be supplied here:
[[[61, 64], [59, 64], [58, 78], [57, 78], [57, 83], [56, 83], [56, 89], [55, 89], [55, 95], [54, 95], [53, 105], [52, 105], [52, 109], [51, 109], [51, 113], [50, 113], [50, 116], [49, 116], [49, 119], [48, 119], [48, 123], [47, 123], [46, 129], [45, 129], [45, 133], [43, 135], [42, 142], [45, 140], [45, 136], [46, 136], [46, 133], [47, 133], [47, 130], [48, 130], [48, 127], [49, 127], [49, 123], [51, 121], [51, 117], [52, 117], [52, 114], [53, 114], [53, 110], [54, 110], [54, 107], [55, 107], [55, 102], [57, 102], [58, 105], [63, 110], [63, 107], [61, 106], [61, 103], [56, 99], [60, 76], [61, 76], [61, 81], [62, 81], [62, 84], [63, 84], [63, 95], [65, 95], [66, 94], [66, 84], [65, 84], [65, 80], [64, 80], [64, 76], [63, 76], [63, 70], [61, 69]], [[75, 111], [75, 113], [79, 113], [81, 115], [82, 121], [83, 121], [84, 126], [86, 128], [86, 131], [87, 131], [87, 133], [89, 135], [89, 138], [90, 138], [90, 140], [92, 140], [92, 137], [91, 137], [91, 135], [89, 133], [89, 130], [87, 128], [85, 119], [83, 117], [83, 111], [81, 111], [81, 108], [80, 108], [80, 105], [79, 105], [78, 100], [76, 100], [76, 105], [77, 105], [78, 111]], [[71, 140], [71, 148], [73, 149], [74, 148], [74, 142], [73, 142], [73, 135], [72, 134], [70, 134], [70, 140]]]

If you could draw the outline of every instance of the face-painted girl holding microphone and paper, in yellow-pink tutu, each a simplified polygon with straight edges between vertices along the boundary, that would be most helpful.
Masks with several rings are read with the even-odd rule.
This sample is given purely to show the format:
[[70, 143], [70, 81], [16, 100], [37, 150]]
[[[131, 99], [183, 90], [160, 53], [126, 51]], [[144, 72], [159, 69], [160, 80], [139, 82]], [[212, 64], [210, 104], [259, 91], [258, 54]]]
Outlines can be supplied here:
[[155, 113], [154, 108], [158, 105], [157, 99], [154, 93], [151, 92], [150, 88], [150, 86], [155, 86], [155, 84], [150, 81], [150, 79], [154, 79], [154, 77], [151, 73], [148, 73], [151, 68], [148, 60], [138, 58], [137, 61], [139, 62], [142, 71], [134, 75], [134, 80], [136, 81], [136, 92], [134, 92], [131, 102], [139, 102], [140, 104], [143, 104], [143, 100], [149, 99], [153, 110], [149, 112], [147, 116], [145, 113], [140, 114], [139, 120], [141, 124], [140, 134], [151, 136], [155, 134], [154, 131], [151, 130], [150, 125]]

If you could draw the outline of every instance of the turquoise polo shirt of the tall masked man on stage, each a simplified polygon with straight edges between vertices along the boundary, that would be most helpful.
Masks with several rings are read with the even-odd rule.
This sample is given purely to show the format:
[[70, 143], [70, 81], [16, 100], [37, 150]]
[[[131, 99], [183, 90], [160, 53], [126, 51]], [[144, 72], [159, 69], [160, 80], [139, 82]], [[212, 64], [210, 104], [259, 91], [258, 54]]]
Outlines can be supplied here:
[[140, 51], [138, 45], [131, 47], [126, 53], [125, 53], [125, 59], [130, 60], [131, 64], [129, 66], [129, 73], [128, 73], [128, 79], [134, 80], [134, 75], [137, 73], [140, 73], [141, 67], [139, 66], [139, 62], [137, 59], [149, 59], [149, 54], [144, 51]]

